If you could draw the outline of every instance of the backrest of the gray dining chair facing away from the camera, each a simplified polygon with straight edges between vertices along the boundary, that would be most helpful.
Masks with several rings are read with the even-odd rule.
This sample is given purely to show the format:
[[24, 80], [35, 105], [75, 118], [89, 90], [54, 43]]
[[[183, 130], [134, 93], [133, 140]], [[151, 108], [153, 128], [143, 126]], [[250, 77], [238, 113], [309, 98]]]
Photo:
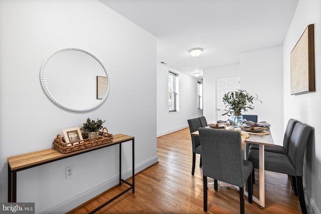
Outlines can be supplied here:
[[200, 128], [203, 175], [244, 187], [241, 133]]

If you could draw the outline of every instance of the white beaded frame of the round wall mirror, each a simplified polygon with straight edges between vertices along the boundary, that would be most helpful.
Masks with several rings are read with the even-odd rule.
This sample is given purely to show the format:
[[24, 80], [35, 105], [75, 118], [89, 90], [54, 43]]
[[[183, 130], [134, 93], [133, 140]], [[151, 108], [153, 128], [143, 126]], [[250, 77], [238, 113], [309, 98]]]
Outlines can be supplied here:
[[[61, 53], [61, 52], [64, 52], [64, 51], [70, 51], [70, 50], [74, 50], [74, 51], [82, 51], [86, 54], [89, 54], [90, 56], [92, 56], [93, 58], [95, 58], [99, 63], [100, 65], [103, 67], [105, 73], [106, 73], [106, 76], [107, 76], [107, 81], [108, 81], [108, 88], [107, 88], [107, 91], [106, 91], [106, 94], [105, 94], [105, 97], [95, 106], [93, 107], [89, 107], [89, 108], [84, 108], [84, 109], [75, 109], [75, 108], [69, 108], [68, 106], [65, 106], [64, 104], [60, 103], [49, 91], [48, 89], [48, 86], [46, 84], [46, 78], [45, 78], [45, 74], [46, 74], [46, 68], [47, 68], [47, 65], [49, 63], [49, 61], [57, 54]], [[73, 112], [88, 112], [88, 111], [92, 111], [96, 108], [98, 108], [99, 106], [101, 106], [108, 98], [108, 95], [109, 95], [109, 91], [110, 91], [110, 77], [108, 75], [108, 72], [106, 70], [106, 67], [104, 66], [104, 64], [93, 54], [89, 53], [88, 51], [85, 51], [85, 50], [82, 50], [82, 49], [79, 49], [79, 48], [63, 48], [63, 49], [59, 49], [55, 52], [53, 52], [52, 54], [50, 54], [46, 59], [45, 61], [43, 62], [42, 66], [41, 66], [41, 70], [40, 70], [40, 82], [41, 82], [41, 86], [44, 90], [44, 92], [47, 94], [47, 96], [58, 106], [60, 106], [61, 108], [64, 108], [66, 110], [69, 110], [69, 111], [73, 111]]]

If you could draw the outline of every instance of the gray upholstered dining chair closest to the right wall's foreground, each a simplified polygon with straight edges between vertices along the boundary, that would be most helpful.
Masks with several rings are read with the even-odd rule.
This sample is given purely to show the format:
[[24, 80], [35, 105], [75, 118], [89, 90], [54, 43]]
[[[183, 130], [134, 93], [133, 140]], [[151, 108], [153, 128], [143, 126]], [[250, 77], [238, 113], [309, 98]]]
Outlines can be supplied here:
[[[302, 213], [307, 213], [302, 183], [303, 156], [305, 146], [311, 139], [311, 136], [311, 126], [301, 122], [296, 122], [288, 144], [288, 152], [286, 154], [264, 151], [265, 170], [292, 176], [292, 182], [297, 189]], [[258, 150], [250, 149], [247, 159], [253, 163], [254, 168], [259, 168], [258, 157]]]

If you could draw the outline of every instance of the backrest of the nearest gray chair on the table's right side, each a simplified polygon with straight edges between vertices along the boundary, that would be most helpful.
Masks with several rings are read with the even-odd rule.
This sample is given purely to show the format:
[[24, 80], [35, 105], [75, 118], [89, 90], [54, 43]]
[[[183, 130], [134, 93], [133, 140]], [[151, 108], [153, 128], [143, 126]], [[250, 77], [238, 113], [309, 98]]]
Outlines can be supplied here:
[[294, 126], [289, 142], [288, 156], [295, 167], [296, 176], [303, 176], [304, 151], [311, 131], [311, 126], [301, 122], [297, 122]]

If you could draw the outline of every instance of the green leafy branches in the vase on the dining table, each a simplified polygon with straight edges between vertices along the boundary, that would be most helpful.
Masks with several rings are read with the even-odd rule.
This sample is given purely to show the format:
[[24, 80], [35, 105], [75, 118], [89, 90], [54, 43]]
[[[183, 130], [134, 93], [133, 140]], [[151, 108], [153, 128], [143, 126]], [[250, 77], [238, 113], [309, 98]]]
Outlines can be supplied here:
[[262, 103], [262, 101], [257, 98], [258, 96], [256, 94], [252, 96], [243, 89], [230, 91], [223, 96], [223, 102], [226, 106], [224, 109], [225, 113], [222, 115], [231, 116], [234, 113], [241, 113], [242, 110], [246, 112], [247, 109], [254, 109], [254, 106], [252, 105], [254, 100], [258, 100]]

